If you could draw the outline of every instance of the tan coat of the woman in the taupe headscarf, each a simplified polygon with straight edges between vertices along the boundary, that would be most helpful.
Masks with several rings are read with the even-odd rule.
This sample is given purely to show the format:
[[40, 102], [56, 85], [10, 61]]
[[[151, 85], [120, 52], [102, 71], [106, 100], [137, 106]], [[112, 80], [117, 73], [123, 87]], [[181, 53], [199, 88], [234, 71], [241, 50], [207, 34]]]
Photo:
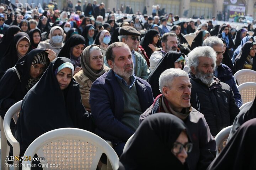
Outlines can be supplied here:
[[92, 81], [83, 73], [83, 70], [80, 70], [74, 75], [74, 79], [79, 83], [80, 94], [82, 98], [82, 104], [85, 108], [91, 109], [89, 104], [90, 90]]

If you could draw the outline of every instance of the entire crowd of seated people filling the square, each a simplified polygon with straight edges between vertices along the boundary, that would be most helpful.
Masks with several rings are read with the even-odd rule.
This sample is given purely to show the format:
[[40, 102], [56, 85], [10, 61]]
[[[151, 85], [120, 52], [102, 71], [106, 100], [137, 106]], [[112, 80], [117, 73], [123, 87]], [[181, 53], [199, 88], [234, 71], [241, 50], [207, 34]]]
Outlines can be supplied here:
[[[17, 8], [12, 17], [0, 10], [0, 116], [22, 100], [11, 122], [20, 156], [40, 135], [72, 127], [110, 141], [120, 170], [256, 168], [255, 101], [240, 111], [234, 79], [256, 71], [252, 24], [186, 22], [160, 6], [120, 19], [96, 0], [84, 11], [70, 5]], [[216, 157], [214, 137], [230, 125]]]

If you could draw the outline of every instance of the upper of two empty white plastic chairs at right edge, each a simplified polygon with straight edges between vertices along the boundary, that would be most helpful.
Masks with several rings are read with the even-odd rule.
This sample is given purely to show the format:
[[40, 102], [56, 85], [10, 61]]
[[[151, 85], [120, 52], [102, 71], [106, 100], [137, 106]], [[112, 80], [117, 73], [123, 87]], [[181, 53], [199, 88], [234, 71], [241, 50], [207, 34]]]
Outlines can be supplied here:
[[235, 82], [237, 82], [237, 85], [240, 85], [246, 82], [256, 83], [256, 72], [250, 69], [241, 69], [234, 74], [234, 79], [235, 79]]

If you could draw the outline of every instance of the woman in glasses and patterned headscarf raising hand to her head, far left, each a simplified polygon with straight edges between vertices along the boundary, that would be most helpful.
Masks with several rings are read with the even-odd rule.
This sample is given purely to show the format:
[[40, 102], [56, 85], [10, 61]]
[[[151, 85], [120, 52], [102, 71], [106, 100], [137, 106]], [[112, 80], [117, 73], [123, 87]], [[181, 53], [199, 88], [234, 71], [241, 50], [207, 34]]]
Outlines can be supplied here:
[[0, 115], [22, 100], [41, 78], [49, 63], [56, 58], [52, 50], [34, 49], [9, 68], [0, 80]]

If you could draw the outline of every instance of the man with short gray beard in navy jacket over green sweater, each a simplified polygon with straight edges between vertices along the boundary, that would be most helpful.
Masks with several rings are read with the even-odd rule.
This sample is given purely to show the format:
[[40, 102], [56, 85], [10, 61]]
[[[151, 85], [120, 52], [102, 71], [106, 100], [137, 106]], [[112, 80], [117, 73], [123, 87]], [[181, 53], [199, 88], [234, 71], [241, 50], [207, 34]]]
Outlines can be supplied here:
[[92, 84], [89, 103], [97, 126], [95, 133], [110, 140], [120, 156], [129, 137], [139, 126], [139, 117], [153, 103], [148, 82], [135, 77], [132, 53], [127, 44], [114, 42], [106, 50], [112, 68]]

